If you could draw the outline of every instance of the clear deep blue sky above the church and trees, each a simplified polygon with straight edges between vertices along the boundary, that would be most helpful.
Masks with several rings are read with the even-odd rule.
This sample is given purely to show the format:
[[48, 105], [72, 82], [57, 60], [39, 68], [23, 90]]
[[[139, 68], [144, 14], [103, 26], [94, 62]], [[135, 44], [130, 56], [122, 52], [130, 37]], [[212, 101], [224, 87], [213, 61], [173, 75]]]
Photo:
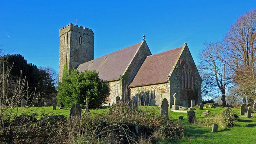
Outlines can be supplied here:
[[[146, 41], [152, 54], [188, 43], [198, 64], [205, 41], [221, 40], [256, 1], [0, 1], [0, 44], [58, 71], [59, 29], [94, 31], [94, 58]], [[76, 22], [77, 20], [77, 22]]]

